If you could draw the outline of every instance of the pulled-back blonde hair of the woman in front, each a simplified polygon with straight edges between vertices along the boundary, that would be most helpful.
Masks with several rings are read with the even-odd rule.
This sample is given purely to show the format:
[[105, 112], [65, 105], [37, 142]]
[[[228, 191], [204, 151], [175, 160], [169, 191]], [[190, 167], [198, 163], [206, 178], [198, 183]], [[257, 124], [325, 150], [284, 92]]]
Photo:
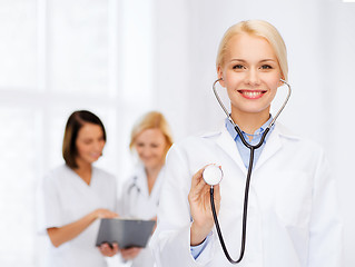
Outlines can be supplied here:
[[223, 67], [225, 60], [225, 53], [229, 40], [236, 34], [248, 33], [256, 37], [265, 38], [275, 51], [276, 58], [278, 60], [279, 68], [282, 70], [283, 79], [287, 81], [288, 76], [288, 65], [287, 65], [287, 52], [285, 42], [277, 31], [277, 29], [270, 23], [264, 20], [247, 20], [240, 21], [231, 26], [221, 38], [219, 43], [216, 67]]

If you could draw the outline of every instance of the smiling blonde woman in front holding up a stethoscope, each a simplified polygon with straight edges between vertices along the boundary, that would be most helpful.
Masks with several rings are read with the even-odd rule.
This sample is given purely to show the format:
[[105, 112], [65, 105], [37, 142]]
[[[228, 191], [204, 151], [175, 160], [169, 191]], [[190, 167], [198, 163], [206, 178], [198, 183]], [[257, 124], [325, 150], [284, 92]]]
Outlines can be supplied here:
[[[175, 144], [167, 157], [151, 247], [158, 267], [233, 266], [214, 226], [206, 166], [220, 166], [216, 212], [231, 258], [240, 251], [249, 145], [256, 150], [249, 190], [247, 237], [240, 266], [341, 267], [342, 221], [335, 180], [323, 149], [270, 125], [270, 105], [287, 80], [286, 47], [266, 21], [230, 27], [218, 50], [217, 77], [227, 90], [230, 118], [215, 134]], [[207, 107], [206, 107], [207, 108]], [[240, 135], [240, 136], [239, 136]], [[238, 266], [238, 265], [237, 265]]]

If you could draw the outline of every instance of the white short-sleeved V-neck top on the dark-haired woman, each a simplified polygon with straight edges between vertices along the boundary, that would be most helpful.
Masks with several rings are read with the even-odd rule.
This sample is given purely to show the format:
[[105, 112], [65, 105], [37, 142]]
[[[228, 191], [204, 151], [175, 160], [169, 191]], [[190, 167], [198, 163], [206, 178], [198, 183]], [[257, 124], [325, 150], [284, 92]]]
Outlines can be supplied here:
[[[98, 208], [116, 211], [116, 179], [92, 167], [88, 186], [66, 165], [52, 170], [40, 186], [39, 230], [73, 222]], [[48, 267], [103, 267], [105, 257], [96, 247], [99, 220], [93, 221], [79, 236], [56, 248], [50, 244]]]

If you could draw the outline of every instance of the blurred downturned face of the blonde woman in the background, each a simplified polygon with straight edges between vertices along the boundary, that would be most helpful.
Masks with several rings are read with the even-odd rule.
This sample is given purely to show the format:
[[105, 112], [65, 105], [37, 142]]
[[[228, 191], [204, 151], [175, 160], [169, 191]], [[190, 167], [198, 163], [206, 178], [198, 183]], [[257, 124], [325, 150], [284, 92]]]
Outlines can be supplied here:
[[160, 129], [147, 129], [136, 137], [135, 148], [146, 168], [161, 167], [167, 141]]

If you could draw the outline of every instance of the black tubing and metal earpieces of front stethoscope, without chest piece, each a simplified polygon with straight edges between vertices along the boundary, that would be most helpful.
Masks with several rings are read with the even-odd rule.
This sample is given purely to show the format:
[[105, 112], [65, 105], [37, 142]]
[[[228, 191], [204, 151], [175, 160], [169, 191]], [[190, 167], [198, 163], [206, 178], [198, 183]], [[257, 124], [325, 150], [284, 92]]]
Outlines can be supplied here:
[[217, 217], [217, 212], [216, 212], [216, 207], [215, 207], [215, 197], [214, 197], [214, 186], [210, 187], [210, 206], [211, 206], [211, 211], [213, 211], [213, 215], [214, 215], [214, 220], [215, 220], [215, 225], [216, 225], [216, 230], [217, 230], [217, 234], [218, 234], [218, 238], [219, 238], [219, 241], [220, 241], [220, 245], [221, 245], [221, 248], [227, 257], [227, 259], [229, 260], [229, 263], [231, 264], [238, 264], [241, 261], [243, 257], [244, 257], [244, 254], [245, 254], [245, 244], [246, 244], [246, 229], [247, 229], [247, 215], [248, 215], [248, 199], [249, 199], [249, 187], [250, 187], [250, 178], [252, 178], [252, 170], [253, 170], [253, 164], [254, 164], [254, 151], [255, 149], [258, 149], [259, 147], [262, 147], [265, 138], [266, 138], [266, 135], [269, 132], [272, 126], [275, 123], [276, 119], [278, 118], [278, 116], [280, 115], [280, 112], [284, 110], [289, 97], [290, 97], [290, 86], [283, 79], [280, 79], [280, 81], [283, 81], [287, 87], [288, 87], [288, 95], [283, 103], [283, 106], [280, 107], [280, 109], [278, 110], [278, 112], [276, 113], [275, 118], [272, 120], [272, 122], [267, 126], [267, 128], [265, 129], [265, 131], [263, 132], [263, 136], [262, 136], [262, 139], [260, 141], [255, 145], [255, 146], [252, 146], [250, 144], [248, 144], [239, 127], [233, 121], [230, 115], [228, 113], [228, 110], [226, 109], [226, 107], [224, 106], [223, 101], [220, 100], [218, 93], [217, 93], [217, 90], [216, 90], [216, 83], [221, 80], [218, 79], [214, 82], [213, 85], [213, 89], [214, 89], [214, 93], [220, 105], [220, 107], [223, 108], [223, 110], [225, 111], [225, 113], [227, 115], [228, 119], [230, 120], [230, 122], [233, 123], [235, 130], [238, 132], [240, 139], [241, 139], [241, 142], [244, 144], [244, 146], [246, 146], [248, 149], [250, 149], [250, 157], [249, 157], [249, 167], [248, 167], [248, 174], [247, 174], [247, 179], [246, 179], [246, 184], [245, 184], [245, 191], [244, 191], [244, 206], [243, 206], [243, 228], [241, 228], [241, 245], [240, 245], [240, 254], [239, 254], [239, 258], [237, 260], [234, 260], [230, 256], [229, 256], [229, 253], [227, 250], [227, 247], [226, 247], [226, 244], [224, 241], [224, 238], [223, 238], [223, 235], [221, 235], [221, 230], [220, 230], [220, 227], [219, 227], [219, 222], [218, 222], [218, 217]]

